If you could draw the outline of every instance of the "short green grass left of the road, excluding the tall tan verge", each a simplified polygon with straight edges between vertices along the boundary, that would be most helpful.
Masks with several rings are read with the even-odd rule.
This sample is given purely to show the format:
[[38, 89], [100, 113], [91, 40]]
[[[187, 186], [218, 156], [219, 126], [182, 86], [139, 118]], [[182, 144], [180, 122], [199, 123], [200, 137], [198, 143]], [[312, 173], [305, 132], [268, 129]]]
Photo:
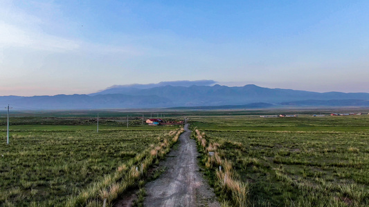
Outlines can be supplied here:
[[10, 126], [9, 145], [6, 126], [0, 126], [0, 206], [61, 204], [177, 128], [102, 122], [97, 133], [96, 125], [69, 120], [60, 125], [18, 117]]

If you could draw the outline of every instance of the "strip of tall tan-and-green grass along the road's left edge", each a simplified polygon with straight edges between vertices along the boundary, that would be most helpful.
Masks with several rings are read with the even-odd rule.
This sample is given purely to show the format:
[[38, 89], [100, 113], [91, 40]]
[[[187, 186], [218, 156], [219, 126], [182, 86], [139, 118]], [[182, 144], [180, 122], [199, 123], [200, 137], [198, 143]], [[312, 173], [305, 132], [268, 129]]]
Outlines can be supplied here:
[[149, 149], [129, 160], [127, 164], [118, 166], [116, 172], [105, 175], [102, 181], [92, 184], [90, 188], [71, 197], [62, 206], [101, 206], [104, 199], [107, 201], [107, 206], [113, 206], [114, 200], [119, 195], [143, 182], [142, 179], [145, 179], [148, 168], [165, 157], [182, 132], [183, 128], [170, 131], [168, 135], [161, 137], [159, 144], [150, 146]]

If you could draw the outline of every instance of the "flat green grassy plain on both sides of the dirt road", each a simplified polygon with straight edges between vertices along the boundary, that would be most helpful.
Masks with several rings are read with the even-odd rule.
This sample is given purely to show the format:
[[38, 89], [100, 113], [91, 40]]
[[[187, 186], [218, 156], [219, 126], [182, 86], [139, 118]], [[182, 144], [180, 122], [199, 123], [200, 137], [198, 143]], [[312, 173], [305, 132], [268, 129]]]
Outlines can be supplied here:
[[[368, 115], [262, 113], [172, 115], [190, 117], [202, 172], [222, 206], [369, 205]], [[127, 128], [125, 115], [114, 112], [101, 116], [96, 132], [91, 115], [17, 115], [10, 145], [0, 117], [0, 206], [102, 206], [103, 199], [113, 206], [145, 184], [148, 167], [180, 133], [177, 126], [145, 126], [139, 114], [129, 116]]]

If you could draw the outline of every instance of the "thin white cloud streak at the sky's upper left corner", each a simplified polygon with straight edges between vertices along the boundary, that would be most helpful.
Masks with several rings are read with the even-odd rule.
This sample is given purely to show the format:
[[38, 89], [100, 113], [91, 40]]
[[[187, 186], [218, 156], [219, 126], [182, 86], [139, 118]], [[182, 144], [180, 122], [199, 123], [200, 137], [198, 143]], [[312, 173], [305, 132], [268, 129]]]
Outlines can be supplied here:
[[[33, 4], [46, 13], [58, 11], [55, 3]], [[48, 12], [47, 12], [48, 11]], [[12, 1], [0, 2], [0, 52], [5, 48], [26, 48], [27, 50], [45, 50], [49, 52], [96, 52], [98, 54], [123, 54], [142, 55], [143, 52], [133, 46], [111, 46], [101, 43], [89, 43], [70, 37], [60, 37], [48, 34], [43, 27], [51, 22], [50, 20], [37, 17], [37, 14], [28, 13], [13, 4]]]

